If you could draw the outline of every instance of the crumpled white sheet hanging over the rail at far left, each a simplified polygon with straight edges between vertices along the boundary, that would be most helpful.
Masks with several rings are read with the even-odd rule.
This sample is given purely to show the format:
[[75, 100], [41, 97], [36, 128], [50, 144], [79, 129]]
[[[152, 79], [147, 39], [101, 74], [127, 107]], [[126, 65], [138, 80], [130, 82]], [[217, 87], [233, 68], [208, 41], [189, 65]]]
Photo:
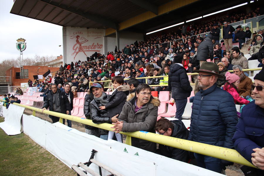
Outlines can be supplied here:
[[5, 121], [0, 123], [0, 127], [8, 135], [20, 134], [23, 131], [21, 126], [21, 116], [25, 108], [10, 104], [8, 109], [6, 109], [4, 106], [2, 109]]

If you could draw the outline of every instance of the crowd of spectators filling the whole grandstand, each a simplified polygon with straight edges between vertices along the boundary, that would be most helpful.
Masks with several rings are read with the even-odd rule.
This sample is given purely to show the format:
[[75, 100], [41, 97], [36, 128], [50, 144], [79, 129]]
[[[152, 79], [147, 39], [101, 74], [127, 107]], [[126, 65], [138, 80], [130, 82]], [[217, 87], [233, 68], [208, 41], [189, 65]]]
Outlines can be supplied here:
[[[255, 84], [253, 84], [248, 78], [248, 73], [242, 71], [248, 68], [248, 60], [243, 56], [240, 48], [226, 47], [226, 51], [222, 54], [219, 45], [220, 26], [224, 24], [228, 27], [229, 23], [260, 14], [260, 8], [257, 8], [248, 14], [227, 15], [221, 21], [208, 24], [183, 25], [176, 32], [148, 38], [145, 42], [136, 41], [126, 45], [121, 51], [116, 48], [115, 53], [108, 52], [107, 56], [94, 53], [91, 57], [87, 57], [87, 61], [79, 60], [61, 65], [54, 78], [49, 76], [43, 82], [29, 80], [28, 85], [38, 87], [38, 92], [43, 93], [41, 94], [45, 100], [43, 111], [49, 107], [50, 111], [69, 115], [73, 109], [72, 100], [77, 97], [76, 92], [87, 92], [84, 102], [86, 118], [94, 123], [112, 123], [114, 125], [112, 128], [117, 133], [114, 135], [111, 131], [87, 125], [85, 128], [88, 134], [105, 140], [116, 138], [117, 141], [122, 142], [120, 131], [155, 133], [156, 130], [158, 134], [165, 136], [236, 148], [249, 162], [264, 170], [262, 148], [264, 147], [262, 89], [264, 70], [255, 76]], [[230, 30], [231, 27], [226, 30], [227, 45], [230, 44], [228, 41], [232, 33]], [[204, 32], [210, 33], [207, 37], [198, 35], [197, 38], [187, 38]], [[239, 32], [241, 28], [238, 26], [237, 33]], [[239, 41], [237, 33], [235, 40]], [[260, 57], [263, 63], [261, 34], [258, 33], [256, 45], [250, 50], [252, 57], [257, 53], [255, 51], [258, 51], [257, 58]], [[178, 43], [178, 38], [184, 38], [184, 43]], [[172, 45], [168, 45], [169, 41]], [[211, 62], [206, 62], [207, 59]], [[213, 60], [215, 63], [212, 62]], [[233, 70], [233, 73], [230, 74], [227, 70]], [[190, 97], [190, 102], [193, 102], [190, 131], [181, 122], [187, 97], [192, 92], [187, 72], [199, 73], [195, 81], [195, 96]], [[163, 75], [168, 77], [155, 77]], [[135, 79], [137, 77], [152, 78], [147, 78], [148, 84], [145, 84], [145, 79]], [[128, 80], [124, 80], [126, 78]], [[109, 82], [100, 82], [105, 80]], [[194, 77], [192, 80], [194, 81]], [[112, 91], [111, 95], [105, 93]], [[162, 118], [157, 122], [160, 101], [151, 95], [151, 91], [171, 91], [177, 109], [175, 117], [178, 120], [170, 122]], [[23, 91], [21, 94], [20, 89], [17, 89], [16, 94], [22, 95]], [[17, 102], [13, 98], [5, 97], [11, 103]], [[239, 122], [235, 104], [248, 104], [241, 109]], [[256, 111], [253, 110], [254, 108]], [[251, 118], [251, 121], [244, 118], [245, 116]], [[55, 116], [50, 118], [53, 123], [59, 120]], [[250, 124], [250, 128], [247, 127], [247, 123]], [[256, 123], [258, 129], [254, 128]], [[69, 124], [70, 121], [68, 126]], [[251, 145], [243, 141], [245, 138]], [[192, 158], [184, 150], [165, 145], [160, 145], [160, 150], [156, 151], [155, 143], [138, 138], [132, 138], [132, 145], [184, 162]], [[194, 157], [198, 166], [215, 172], [221, 172], [222, 166], [231, 164], [197, 153]], [[255, 172], [263, 174], [260, 170]]]

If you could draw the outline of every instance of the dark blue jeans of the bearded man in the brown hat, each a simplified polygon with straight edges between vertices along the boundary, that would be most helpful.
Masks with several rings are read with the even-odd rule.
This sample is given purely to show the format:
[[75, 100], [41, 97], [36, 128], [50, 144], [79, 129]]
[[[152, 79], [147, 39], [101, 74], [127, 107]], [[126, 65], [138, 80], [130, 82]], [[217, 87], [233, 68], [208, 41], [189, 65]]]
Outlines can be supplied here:
[[194, 153], [194, 157], [196, 159], [197, 166], [218, 173], [222, 172], [222, 163], [220, 159], [211, 156], [201, 155], [198, 153]]

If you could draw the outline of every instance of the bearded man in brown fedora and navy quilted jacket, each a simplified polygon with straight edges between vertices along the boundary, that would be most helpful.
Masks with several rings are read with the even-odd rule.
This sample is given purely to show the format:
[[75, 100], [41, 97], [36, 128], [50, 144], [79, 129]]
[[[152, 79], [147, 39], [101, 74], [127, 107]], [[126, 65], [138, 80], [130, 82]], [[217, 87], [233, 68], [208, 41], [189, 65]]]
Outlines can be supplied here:
[[[232, 137], [238, 121], [236, 106], [231, 94], [216, 86], [219, 74], [218, 66], [213, 62], [204, 62], [199, 70], [199, 92], [195, 94], [191, 126], [188, 140], [234, 148]], [[221, 173], [222, 167], [231, 162], [194, 153], [199, 167]]]

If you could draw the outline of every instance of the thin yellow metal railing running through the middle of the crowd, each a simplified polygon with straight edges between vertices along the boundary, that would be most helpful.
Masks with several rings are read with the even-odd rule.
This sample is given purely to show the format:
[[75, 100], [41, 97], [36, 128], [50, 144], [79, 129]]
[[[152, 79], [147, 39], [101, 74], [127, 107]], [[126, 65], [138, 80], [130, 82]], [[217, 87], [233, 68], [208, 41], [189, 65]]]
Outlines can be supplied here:
[[[243, 69], [244, 72], [246, 71], [254, 71], [254, 70], [261, 70], [262, 67], [259, 67], [259, 68], [251, 68], [251, 69]], [[233, 72], [233, 70], [228, 70], [229, 72]], [[187, 73], [187, 75], [198, 75], [198, 73]], [[136, 78], [136, 79], [145, 79], [145, 82], [146, 84], [148, 84], [148, 80], [147, 79], [150, 79], [150, 78], [163, 78], [163, 77], [168, 77], [168, 75], [165, 75], [165, 76], [151, 76], [151, 77], [140, 77], [140, 78]], [[129, 80], [130, 78], [125, 78], [124, 80]], [[111, 79], [110, 80], [105, 80], [105, 81], [91, 81], [89, 82], [89, 87], [91, 87], [91, 83], [94, 83], [94, 82], [110, 82], [112, 81]], [[191, 85], [195, 85], [195, 83], [191, 83]], [[168, 85], [149, 85], [150, 87], [158, 87], [158, 86], [168, 86]], [[105, 87], [105, 88], [109, 88], [109, 87]]]

